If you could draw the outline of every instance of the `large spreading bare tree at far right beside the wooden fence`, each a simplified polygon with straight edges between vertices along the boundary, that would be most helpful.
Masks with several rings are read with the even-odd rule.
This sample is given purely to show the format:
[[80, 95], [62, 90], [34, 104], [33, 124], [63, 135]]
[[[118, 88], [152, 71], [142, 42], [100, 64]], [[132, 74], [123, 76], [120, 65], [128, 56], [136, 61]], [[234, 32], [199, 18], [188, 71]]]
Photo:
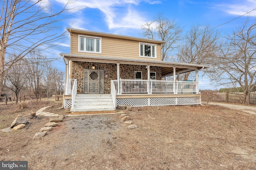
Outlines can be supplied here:
[[249, 95], [256, 86], [256, 23], [244, 23], [226, 37], [222, 53], [212, 59], [209, 78], [226, 87], [242, 87], [242, 104], [249, 103]]

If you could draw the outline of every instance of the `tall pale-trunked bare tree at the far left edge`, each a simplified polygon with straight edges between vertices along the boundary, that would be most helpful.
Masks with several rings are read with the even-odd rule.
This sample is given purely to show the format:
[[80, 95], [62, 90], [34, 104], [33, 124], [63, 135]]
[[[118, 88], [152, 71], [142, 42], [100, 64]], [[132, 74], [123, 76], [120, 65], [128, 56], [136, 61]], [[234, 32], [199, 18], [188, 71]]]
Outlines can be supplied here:
[[[65, 33], [56, 32], [60, 14], [51, 11], [48, 1], [43, 0], [2, 0], [0, 10], [0, 95], [4, 74], [10, 67], [25, 57], [30, 51], [44, 45], [44, 49], [63, 41]], [[70, 1], [67, 2], [69, 4]], [[17, 51], [14, 60], [5, 66], [5, 58]], [[19, 52], [19, 53], [18, 53]]]

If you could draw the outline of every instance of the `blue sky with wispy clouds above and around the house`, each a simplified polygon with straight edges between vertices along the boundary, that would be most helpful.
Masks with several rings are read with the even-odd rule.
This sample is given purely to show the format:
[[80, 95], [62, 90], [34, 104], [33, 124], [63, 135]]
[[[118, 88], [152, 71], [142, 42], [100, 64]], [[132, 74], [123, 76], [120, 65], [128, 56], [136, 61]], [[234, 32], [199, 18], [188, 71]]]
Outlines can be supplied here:
[[[58, 8], [64, 6], [67, 0], [49, 2]], [[183, 28], [183, 34], [191, 25], [201, 24], [216, 27], [224, 36], [232, 33], [232, 29], [246, 19], [247, 15], [242, 15], [251, 10], [250, 21], [256, 21], [256, 0], [76, 0], [68, 8], [76, 10], [63, 14], [65, 19], [61, 22], [60, 31], [72, 27], [134, 37], [142, 37], [140, 25], [153, 20], [158, 14], [175, 20]], [[58, 52], [70, 53], [69, 45], [69, 40], [62, 43], [56, 55]], [[61, 67], [62, 64], [58, 65]], [[216, 88], [210, 86], [207, 79], [200, 78], [200, 89]]]

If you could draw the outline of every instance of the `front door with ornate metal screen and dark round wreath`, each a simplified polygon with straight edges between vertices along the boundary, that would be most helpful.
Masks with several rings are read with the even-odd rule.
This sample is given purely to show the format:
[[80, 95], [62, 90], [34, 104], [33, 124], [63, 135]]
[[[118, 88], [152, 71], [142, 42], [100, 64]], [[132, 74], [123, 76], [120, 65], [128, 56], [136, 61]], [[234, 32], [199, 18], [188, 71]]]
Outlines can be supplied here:
[[84, 70], [84, 93], [104, 93], [104, 70]]

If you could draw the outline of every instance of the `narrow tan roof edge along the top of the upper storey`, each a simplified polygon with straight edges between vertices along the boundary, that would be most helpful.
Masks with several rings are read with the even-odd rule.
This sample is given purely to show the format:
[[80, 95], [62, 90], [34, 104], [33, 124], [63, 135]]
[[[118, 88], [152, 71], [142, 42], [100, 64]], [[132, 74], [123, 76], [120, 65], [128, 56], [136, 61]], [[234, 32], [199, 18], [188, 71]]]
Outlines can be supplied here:
[[98, 37], [104, 36], [104, 37], [111, 37], [111, 38], [118, 38], [118, 39], [129, 39], [134, 41], [143, 41], [143, 42], [155, 43], [155, 44], [165, 43], [165, 41], [161, 41], [161, 40], [130, 37], [125, 35], [117, 35], [117, 34], [110, 34], [110, 33], [101, 33], [101, 32], [95, 32], [95, 31], [82, 30], [82, 29], [67, 28], [67, 30], [69, 33], [86, 34], [86, 35], [92, 35], [92, 36], [98, 36]]

